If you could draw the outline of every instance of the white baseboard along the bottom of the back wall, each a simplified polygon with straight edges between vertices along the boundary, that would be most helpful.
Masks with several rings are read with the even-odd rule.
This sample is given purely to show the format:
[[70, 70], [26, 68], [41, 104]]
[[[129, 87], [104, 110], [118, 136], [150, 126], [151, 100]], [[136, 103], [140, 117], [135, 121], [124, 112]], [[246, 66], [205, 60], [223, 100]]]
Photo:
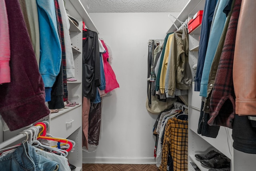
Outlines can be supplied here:
[[156, 164], [154, 157], [83, 157], [83, 163]]

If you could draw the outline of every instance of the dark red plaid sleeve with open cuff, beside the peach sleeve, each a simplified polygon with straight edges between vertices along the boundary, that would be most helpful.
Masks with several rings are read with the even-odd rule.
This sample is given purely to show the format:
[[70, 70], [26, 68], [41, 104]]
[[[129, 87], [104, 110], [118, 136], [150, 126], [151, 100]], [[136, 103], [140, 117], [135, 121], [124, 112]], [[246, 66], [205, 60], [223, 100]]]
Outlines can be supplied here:
[[210, 125], [232, 128], [235, 114], [235, 93], [233, 85], [233, 59], [236, 42], [236, 28], [242, 0], [235, 0], [226, 39], [220, 56], [215, 84], [210, 99]]

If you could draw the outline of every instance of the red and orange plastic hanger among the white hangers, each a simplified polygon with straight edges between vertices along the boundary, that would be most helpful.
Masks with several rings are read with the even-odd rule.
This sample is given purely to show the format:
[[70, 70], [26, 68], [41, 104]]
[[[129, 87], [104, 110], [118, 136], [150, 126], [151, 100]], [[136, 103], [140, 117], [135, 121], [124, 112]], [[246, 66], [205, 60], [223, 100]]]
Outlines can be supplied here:
[[70, 151], [72, 148], [73, 148], [73, 144], [68, 141], [67, 139], [62, 139], [62, 138], [56, 138], [56, 137], [46, 137], [46, 124], [43, 123], [43, 122], [38, 122], [35, 124], [36, 125], [41, 125], [42, 126], [42, 131], [38, 134], [38, 137], [37, 139], [49, 139], [49, 140], [52, 140], [52, 141], [58, 141], [58, 142], [61, 142], [61, 143], [64, 143], [62, 145], [66, 145], [67, 143], [69, 144], [69, 148], [66, 150], [66, 151]]

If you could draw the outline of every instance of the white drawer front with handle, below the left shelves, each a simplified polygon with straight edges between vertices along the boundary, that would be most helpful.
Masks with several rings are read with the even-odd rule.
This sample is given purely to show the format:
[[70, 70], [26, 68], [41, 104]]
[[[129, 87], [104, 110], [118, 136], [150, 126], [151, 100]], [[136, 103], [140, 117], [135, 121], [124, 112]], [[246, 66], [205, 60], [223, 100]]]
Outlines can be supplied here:
[[67, 138], [80, 126], [82, 126], [82, 106], [52, 118], [50, 121], [50, 134], [60, 138]]

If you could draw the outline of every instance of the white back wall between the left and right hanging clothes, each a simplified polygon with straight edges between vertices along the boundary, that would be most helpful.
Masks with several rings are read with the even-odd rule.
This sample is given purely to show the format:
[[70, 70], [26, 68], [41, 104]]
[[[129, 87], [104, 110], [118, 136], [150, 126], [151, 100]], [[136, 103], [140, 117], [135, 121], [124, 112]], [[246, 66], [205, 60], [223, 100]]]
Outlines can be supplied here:
[[[83, 152], [83, 163], [154, 163], [157, 114], [146, 109], [148, 40], [164, 39], [169, 13], [91, 13], [112, 50], [112, 68], [120, 88], [102, 101], [100, 142]], [[178, 16], [179, 13], [172, 13]]]

